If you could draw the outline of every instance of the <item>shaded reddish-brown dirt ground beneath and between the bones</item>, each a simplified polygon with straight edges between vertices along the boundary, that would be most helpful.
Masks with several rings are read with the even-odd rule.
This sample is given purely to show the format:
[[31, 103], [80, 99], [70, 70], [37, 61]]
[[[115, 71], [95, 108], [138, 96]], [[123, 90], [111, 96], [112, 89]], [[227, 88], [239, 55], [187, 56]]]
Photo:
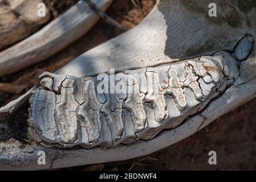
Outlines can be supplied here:
[[[51, 10], [54, 19], [76, 1], [45, 0], [44, 2]], [[115, 0], [107, 10], [107, 14], [123, 26], [132, 28], [143, 20], [154, 5], [154, 0]], [[0, 78], [0, 82], [25, 87], [20, 94], [0, 92], [0, 106], [21, 96], [34, 86], [36, 77], [43, 71], [54, 72], [88, 49], [121, 33], [123, 32], [100, 19], [90, 32], [50, 59]], [[218, 118], [191, 137], [151, 155], [122, 162], [71, 167], [64, 170], [255, 170], [255, 105], [256, 99], [251, 100]], [[217, 152], [217, 165], [208, 163], [208, 153], [212, 150]]]

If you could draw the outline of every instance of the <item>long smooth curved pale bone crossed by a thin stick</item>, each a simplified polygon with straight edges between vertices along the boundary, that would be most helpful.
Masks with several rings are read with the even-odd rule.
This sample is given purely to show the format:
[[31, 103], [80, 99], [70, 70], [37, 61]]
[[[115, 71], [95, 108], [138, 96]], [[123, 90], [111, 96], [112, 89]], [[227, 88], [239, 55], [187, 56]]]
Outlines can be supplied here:
[[[111, 2], [94, 0], [103, 11]], [[84, 1], [79, 1], [42, 30], [1, 52], [0, 76], [17, 72], [61, 51], [86, 34], [97, 20], [99, 16]]]

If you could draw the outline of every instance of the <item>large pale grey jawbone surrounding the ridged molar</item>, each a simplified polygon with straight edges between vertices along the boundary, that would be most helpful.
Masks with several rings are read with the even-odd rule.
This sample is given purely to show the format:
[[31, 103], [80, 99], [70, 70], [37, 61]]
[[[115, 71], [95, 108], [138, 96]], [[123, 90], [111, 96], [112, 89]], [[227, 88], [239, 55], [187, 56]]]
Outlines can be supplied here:
[[[191, 57], [199, 57], [200, 55], [212, 55], [214, 52], [220, 50], [233, 52], [239, 40], [246, 36], [246, 34], [253, 36], [254, 39], [256, 38], [256, 3], [254, 1], [234, 0], [214, 2], [216, 2], [218, 6], [217, 17], [208, 16], [208, 1], [158, 1], [151, 14], [149, 14], [147, 18], [145, 18], [137, 27], [84, 53], [70, 64], [61, 68], [58, 72], [55, 72], [55, 74], [89, 78], [94, 77], [99, 73], [109, 72], [110, 68], [116, 69], [117, 72], [132, 69], [138, 71], [139, 68], [152, 68], [153, 70], [157, 71], [157, 65], [173, 65], [174, 62], [180, 60], [177, 63], [174, 63], [179, 64], [182, 63], [182, 60], [184, 59], [188, 60]], [[226, 56], [227, 55], [228, 54], [226, 54]], [[235, 53], [233, 53], [233, 55], [235, 55]], [[228, 60], [230, 59], [226, 59], [226, 61]], [[226, 62], [223, 64], [225, 63]], [[234, 68], [231, 68], [231, 66], [236, 67], [235, 64], [227, 65], [229, 66], [225, 66], [225, 68], [230, 68], [231, 70], [234, 70]], [[7, 131], [6, 134], [0, 135], [0, 137], [2, 137], [0, 142], [0, 147], [2, 149], [0, 152], [0, 168], [60, 168], [92, 163], [104, 163], [109, 161], [112, 162], [115, 160], [125, 160], [150, 154], [160, 150], [161, 148], [174, 144], [186, 137], [189, 137], [198, 130], [207, 126], [210, 122], [214, 121], [214, 119], [220, 117], [220, 115], [225, 114], [251, 98], [254, 98], [256, 96], [255, 68], [256, 57], [254, 45], [252, 52], [246, 58], [246, 60], [241, 61], [241, 66], [239, 67], [239, 77], [235, 81], [232, 81], [232, 79], [230, 79], [228, 82], [224, 81], [225, 84], [228, 85], [227, 89], [225, 90], [225, 88], [222, 88], [220, 90], [225, 90], [225, 92], [221, 94], [221, 97], [214, 97], [213, 100], [201, 110], [201, 112], [186, 118], [181, 125], [177, 126], [173, 130], [162, 130], [159, 135], [153, 139], [149, 139], [147, 141], [137, 140], [137, 142], [132, 144], [118, 144], [115, 147], [109, 147], [108, 149], [101, 147], [94, 147], [90, 149], [79, 147], [62, 149], [58, 147], [44, 147], [36, 142], [32, 142], [32, 139], [27, 137], [25, 138], [30, 139], [31, 142], [26, 144], [23, 144], [24, 142], [19, 139], [13, 139], [12, 136], [15, 136], [17, 133], [15, 133], [15, 131], [13, 131], [13, 127], [11, 127], [11, 123], [14, 121], [12, 117], [28, 104], [28, 98], [31, 96], [32, 92], [35, 92], [36, 90], [36, 88], [34, 88], [22, 98], [19, 98], [17, 101], [13, 101], [9, 105], [6, 105], [0, 109], [0, 127], [3, 127], [3, 129]], [[133, 72], [133, 70], [131, 72]], [[179, 69], [178, 72], [182, 71]], [[227, 69], [223, 72], [227, 73], [227, 75], [224, 77], [229, 78], [235, 77], [237, 74], [234, 72], [228, 73], [229, 71]], [[151, 76], [152, 74], [153, 73], [149, 73], [148, 76]], [[176, 73], [174, 72], [173, 74], [175, 75]], [[54, 78], [56, 77], [57, 76], [54, 75]], [[180, 82], [184, 81], [184, 78], [182, 79], [180, 76], [179, 78]], [[190, 75], [190, 78], [193, 78], [193, 75]], [[164, 86], [168, 87], [166, 80], [166, 78], [159, 79], [159, 82], [163, 88]], [[168, 80], [170, 80], [169, 77]], [[209, 76], [205, 76], [200, 82], [198, 80], [199, 83], [204, 83], [202, 81], [211, 82], [212, 80]], [[50, 83], [50, 80], [45, 82], [46, 86], [51, 85]], [[78, 83], [83, 84], [85, 82]], [[179, 84], [180, 83], [177, 82], [177, 85]], [[90, 87], [91, 85], [88, 86]], [[196, 85], [192, 86], [194, 88]], [[81, 86], [78, 87], [80, 88]], [[45, 89], [46, 88], [43, 90]], [[52, 90], [53, 89], [57, 90], [57, 95], [61, 93], [61, 90], [59, 90], [60, 88], [58, 88], [58, 84], [53, 86]], [[177, 92], [178, 91], [179, 90], [177, 90]], [[82, 98], [80, 97], [81, 94], [79, 93], [80, 92], [75, 94], [75, 101], [77, 101], [79, 105], [82, 105], [83, 102], [80, 102], [82, 101]], [[147, 94], [145, 90], [141, 90], [141, 93]], [[143, 94], [139, 96], [139, 101], [136, 100], [137, 103], [144, 100]], [[188, 94], [185, 94], [185, 96], [187, 95]], [[124, 96], [118, 96], [118, 98], [123, 97]], [[194, 97], [196, 97], [196, 95], [194, 95]], [[199, 92], [197, 93], [197, 97], [200, 97]], [[109, 96], [109, 98], [111, 98], [112, 101], [115, 101], [114, 104], [116, 101], [118, 101], [115, 96]], [[129, 98], [134, 100], [132, 96], [129, 96]], [[104, 104], [105, 100], [102, 95], [97, 96], [97, 99], [100, 104]], [[152, 101], [152, 97], [149, 97], [148, 101]], [[173, 102], [172, 105], [175, 105], [174, 101], [172, 99], [165, 99], [166, 104]], [[97, 105], [94, 107], [98, 108], [97, 106], [100, 105], [99, 103], [97, 103]], [[133, 102], [132, 104], [135, 103]], [[132, 118], [132, 115], [129, 117], [129, 113], [132, 113], [131, 110], [133, 109], [132, 104], [128, 104], [128, 109], [124, 109], [125, 114], [123, 115], [128, 117], [122, 118], [124, 121], [123, 127], [127, 128], [129, 130], [127, 133], [131, 134], [133, 131], [133, 126], [125, 126], [125, 123], [131, 123], [127, 122], [131, 121], [131, 119], [135, 121], [135, 119]], [[80, 114], [86, 115], [86, 111], [88, 110], [86, 108], [87, 106], [91, 105], [91, 101], [88, 101], [88, 105], [84, 105]], [[145, 107], [145, 109], [147, 109], [145, 111], [146, 117], [148, 117], [147, 113], [149, 113], [151, 114], [151, 118], [155, 118], [155, 113], [152, 111], [152, 104], [146, 102], [145, 105], [148, 105]], [[115, 105], [109, 105], [108, 107], [105, 107], [104, 112], [108, 113], [109, 110], [112, 111], [114, 106]], [[137, 104], [135, 106], [137, 106]], [[155, 107], [156, 106], [157, 105], [155, 105]], [[180, 109], [182, 109], [184, 106], [185, 103], [181, 103]], [[150, 112], [148, 112], [148, 110]], [[179, 110], [176, 108], [173, 109], [173, 117], [175, 115], [177, 115], [177, 117], [179, 116], [178, 111]], [[26, 115], [27, 111], [24, 112]], [[101, 114], [100, 117], [104, 117], [104, 114]], [[133, 115], [136, 115], [136, 113]], [[157, 115], [159, 116], [158, 119], [161, 121], [162, 112], [159, 112]], [[140, 131], [146, 132], [143, 127], [144, 118], [145, 116], [141, 114], [141, 117], [137, 119], [136, 134], [139, 134]], [[26, 119], [27, 118], [25, 118], [25, 121]], [[83, 119], [80, 121], [83, 121]], [[92, 121], [93, 119], [94, 118], [90, 118], [88, 121]], [[17, 123], [19, 119], [15, 121], [15, 123]], [[79, 125], [81, 123], [82, 122], [80, 122]], [[104, 125], [106, 123], [107, 121], [104, 121]], [[90, 124], [90, 122], [87, 122], [87, 124]], [[153, 123], [149, 124], [152, 124], [150, 128], [155, 127]], [[95, 130], [99, 129], [99, 125], [87, 125], [86, 127], [91, 127]], [[104, 135], [109, 135], [110, 133], [110, 130], [100, 131], [104, 131]], [[92, 134], [94, 133], [94, 130], [90, 132]], [[147, 133], [148, 132], [150, 133], [150, 130], [147, 131]], [[119, 132], [115, 132], [115, 136], [118, 137], [118, 134]], [[37, 134], [32, 137], [35, 138], [36, 136], [39, 135]], [[96, 141], [97, 136], [98, 134], [95, 133], [94, 137], [92, 137], [90, 140], [91, 143]], [[130, 140], [128, 140], [128, 138]], [[131, 143], [133, 142], [134, 135], [129, 135], [128, 138], [128, 143]], [[39, 141], [40, 137], [36, 140]], [[110, 143], [105, 144], [107, 146], [110, 145]], [[38, 151], [46, 152], [46, 165], [37, 164]]]

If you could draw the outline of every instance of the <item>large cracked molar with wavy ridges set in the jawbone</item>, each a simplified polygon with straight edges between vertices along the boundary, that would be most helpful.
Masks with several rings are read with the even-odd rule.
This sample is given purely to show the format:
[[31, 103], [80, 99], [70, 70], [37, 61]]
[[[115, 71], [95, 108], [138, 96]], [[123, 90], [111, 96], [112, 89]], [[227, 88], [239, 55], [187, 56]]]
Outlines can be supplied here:
[[[152, 139], [204, 109], [233, 84], [239, 70], [230, 53], [221, 51], [116, 73], [115, 83], [111, 76], [99, 81], [43, 73], [31, 97], [31, 136], [44, 146], [85, 148]], [[106, 79], [115, 92], [107, 84], [99, 92]]]

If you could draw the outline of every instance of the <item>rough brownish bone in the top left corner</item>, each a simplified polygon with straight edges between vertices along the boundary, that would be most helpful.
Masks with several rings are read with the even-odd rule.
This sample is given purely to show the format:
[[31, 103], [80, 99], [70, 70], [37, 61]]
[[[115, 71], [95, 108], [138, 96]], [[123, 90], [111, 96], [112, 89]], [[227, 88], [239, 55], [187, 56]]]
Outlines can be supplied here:
[[[42, 0], [0, 0], [0, 51], [25, 39], [50, 19], [38, 16], [38, 4]], [[0, 56], [1, 57], [1, 56]]]

